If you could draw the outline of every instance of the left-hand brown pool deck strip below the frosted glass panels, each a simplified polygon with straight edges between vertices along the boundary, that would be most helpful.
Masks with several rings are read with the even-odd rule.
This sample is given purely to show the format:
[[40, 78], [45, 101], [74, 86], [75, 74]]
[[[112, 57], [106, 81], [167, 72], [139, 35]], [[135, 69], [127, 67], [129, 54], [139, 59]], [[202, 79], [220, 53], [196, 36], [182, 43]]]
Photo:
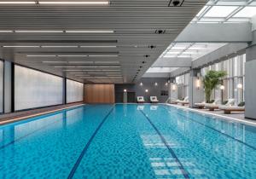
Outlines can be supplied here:
[[0, 115], [0, 125], [14, 123], [20, 120], [25, 120], [26, 118], [37, 117], [39, 115], [47, 114], [47, 113], [54, 113], [57, 111], [61, 111], [63, 109], [68, 109], [71, 107], [79, 107], [84, 105], [83, 102], [75, 102], [66, 105], [58, 105], [54, 107], [42, 107], [38, 109], [20, 111], [15, 113], [5, 113]]

